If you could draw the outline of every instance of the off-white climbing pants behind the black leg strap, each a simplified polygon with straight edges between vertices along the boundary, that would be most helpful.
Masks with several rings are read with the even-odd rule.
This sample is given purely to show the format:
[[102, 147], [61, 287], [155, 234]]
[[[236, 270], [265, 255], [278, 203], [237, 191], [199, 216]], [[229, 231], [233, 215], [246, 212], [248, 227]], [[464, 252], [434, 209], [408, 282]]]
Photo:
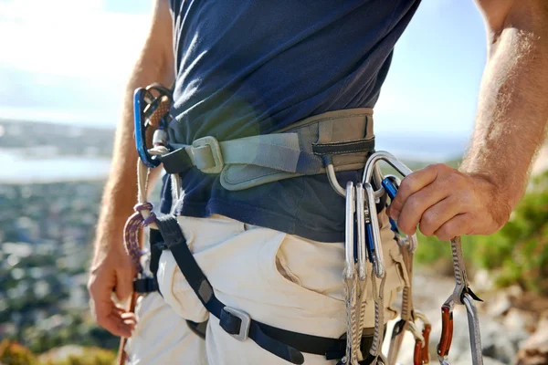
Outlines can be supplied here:
[[[253, 319], [291, 331], [340, 338], [346, 332], [342, 287], [344, 247], [321, 243], [221, 215], [178, 217], [195, 260], [228, 307]], [[383, 213], [381, 237], [385, 255], [385, 320], [408, 279], [402, 256]], [[159, 294], [144, 297], [138, 326], [128, 345], [132, 364], [287, 365], [251, 339], [240, 342], [220, 328], [184, 279], [170, 251], [158, 269]], [[380, 280], [379, 280], [380, 281]], [[380, 283], [377, 283], [377, 285]], [[368, 287], [366, 328], [374, 327], [374, 304]], [[184, 319], [209, 318], [206, 339], [187, 328]], [[304, 353], [305, 364], [335, 364]]]

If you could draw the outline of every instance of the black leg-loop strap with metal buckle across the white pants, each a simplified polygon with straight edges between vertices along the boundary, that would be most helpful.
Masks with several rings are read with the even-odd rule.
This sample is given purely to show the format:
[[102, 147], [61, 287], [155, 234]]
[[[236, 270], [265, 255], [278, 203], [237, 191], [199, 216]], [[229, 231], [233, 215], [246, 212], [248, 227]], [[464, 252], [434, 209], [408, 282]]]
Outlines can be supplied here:
[[[176, 218], [165, 215], [157, 218], [156, 224], [186, 281], [204, 307], [219, 318], [219, 325], [228, 334], [239, 340], [253, 339], [261, 348], [293, 364], [304, 362], [301, 352], [322, 355], [328, 360], [344, 356], [346, 339], [323, 338], [272, 327], [249, 318], [243, 311], [225, 306], [216, 298], [211, 283], [196, 263]], [[363, 342], [367, 339], [364, 338]]]

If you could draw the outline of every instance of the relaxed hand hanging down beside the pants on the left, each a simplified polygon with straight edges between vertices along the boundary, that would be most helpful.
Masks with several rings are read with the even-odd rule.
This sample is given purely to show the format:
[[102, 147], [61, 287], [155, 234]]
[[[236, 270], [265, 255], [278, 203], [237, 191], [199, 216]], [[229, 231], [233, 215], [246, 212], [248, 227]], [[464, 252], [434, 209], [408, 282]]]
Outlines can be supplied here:
[[120, 301], [132, 295], [135, 266], [120, 243], [96, 245], [98, 247], [91, 266], [88, 289], [91, 296], [91, 313], [102, 328], [113, 335], [131, 337], [136, 319], [112, 300], [114, 293]]

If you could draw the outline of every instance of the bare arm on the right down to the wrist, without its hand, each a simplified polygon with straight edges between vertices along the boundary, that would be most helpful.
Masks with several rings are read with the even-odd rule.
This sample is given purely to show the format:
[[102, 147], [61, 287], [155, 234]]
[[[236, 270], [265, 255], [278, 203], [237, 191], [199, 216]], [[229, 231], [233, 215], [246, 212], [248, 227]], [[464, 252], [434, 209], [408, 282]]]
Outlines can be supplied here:
[[548, 121], [548, 3], [478, 4], [486, 18], [489, 56], [461, 171], [482, 175], [505, 192], [498, 203], [511, 210], [522, 197]]

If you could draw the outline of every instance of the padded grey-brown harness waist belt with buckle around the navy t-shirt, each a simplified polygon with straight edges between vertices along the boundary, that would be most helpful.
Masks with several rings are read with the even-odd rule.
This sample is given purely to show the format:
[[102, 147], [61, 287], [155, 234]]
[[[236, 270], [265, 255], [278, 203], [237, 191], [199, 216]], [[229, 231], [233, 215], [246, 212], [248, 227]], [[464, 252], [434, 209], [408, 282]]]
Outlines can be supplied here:
[[158, 157], [167, 173], [195, 167], [220, 174], [227, 190], [323, 173], [328, 164], [335, 171], [358, 170], [374, 151], [373, 110], [328, 111], [272, 134], [232, 141], [206, 136], [170, 148], [174, 151]]

